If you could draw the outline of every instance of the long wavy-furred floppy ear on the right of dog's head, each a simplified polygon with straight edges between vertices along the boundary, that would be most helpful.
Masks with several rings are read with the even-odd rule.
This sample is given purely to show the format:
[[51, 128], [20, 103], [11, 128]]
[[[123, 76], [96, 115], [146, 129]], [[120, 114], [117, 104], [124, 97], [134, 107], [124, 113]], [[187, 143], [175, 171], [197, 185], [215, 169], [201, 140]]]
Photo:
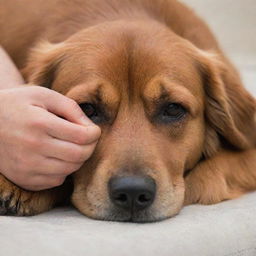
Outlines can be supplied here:
[[256, 145], [256, 101], [231, 64], [220, 58], [203, 51], [196, 57], [206, 99], [206, 157], [220, 147], [243, 150]]

